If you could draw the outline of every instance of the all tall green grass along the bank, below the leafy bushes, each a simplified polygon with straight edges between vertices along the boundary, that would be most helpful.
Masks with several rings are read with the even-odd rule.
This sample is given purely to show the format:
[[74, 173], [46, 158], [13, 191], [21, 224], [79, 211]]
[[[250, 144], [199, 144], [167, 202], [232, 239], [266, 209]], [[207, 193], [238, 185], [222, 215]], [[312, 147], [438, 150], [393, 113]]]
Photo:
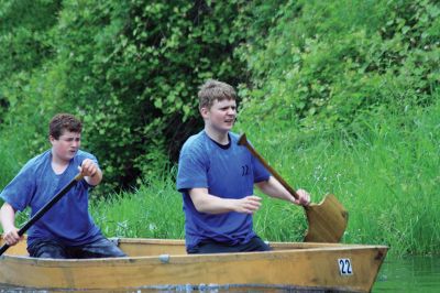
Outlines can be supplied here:
[[[440, 107], [398, 116], [377, 113], [355, 131], [276, 132], [271, 126], [238, 126], [294, 188], [319, 203], [334, 194], [350, 213], [348, 243], [387, 245], [394, 254], [440, 251]], [[108, 236], [184, 237], [182, 196], [175, 171], [138, 191], [92, 205]], [[301, 240], [300, 207], [264, 196], [255, 230], [271, 241]]]

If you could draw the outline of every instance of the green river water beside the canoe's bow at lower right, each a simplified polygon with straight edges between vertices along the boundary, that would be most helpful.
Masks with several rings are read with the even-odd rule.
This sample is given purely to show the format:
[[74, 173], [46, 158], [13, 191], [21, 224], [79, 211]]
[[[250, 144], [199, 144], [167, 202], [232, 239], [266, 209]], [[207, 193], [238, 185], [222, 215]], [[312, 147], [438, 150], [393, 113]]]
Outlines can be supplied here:
[[[0, 293], [29, 292], [24, 289], [2, 287]], [[51, 292], [51, 291], [31, 291], [31, 292]], [[59, 292], [59, 291], [57, 291]], [[73, 291], [69, 291], [73, 292]], [[84, 291], [82, 291], [84, 292]], [[152, 292], [152, 291], [132, 291], [132, 292]], [[162, 291], [164, 292], [164, 291]], [[169, 292], [169, 291], [168, 291]], [[182, 292], [182, 291], [179, 291]], [[199, 291], [191, 291], [191, 293]], [[200, 291], [201, 292], [201, 291]], [[208, 292], [208, 291], [204, 291]], [[212, 291], [210, 291], [212, 292]], [[218, 290], [216, 292], [229, 292], [228, 290]], [[231, 291], [232, 292], [232, 291]], [[233, 292], [265, 292], [265, 290], [233, 291]], [[274, 292], [271, 290], [271, 292]], [[290, 292], [276, 290], [277, 293]], [[387, 257], [382, 264], [376, 282], [372, 290], [373, 293], [381, 292], [408, 292], [408, 293], [438, 293], [440, 292], [440, 257], [409, 257], [404, 259]]]

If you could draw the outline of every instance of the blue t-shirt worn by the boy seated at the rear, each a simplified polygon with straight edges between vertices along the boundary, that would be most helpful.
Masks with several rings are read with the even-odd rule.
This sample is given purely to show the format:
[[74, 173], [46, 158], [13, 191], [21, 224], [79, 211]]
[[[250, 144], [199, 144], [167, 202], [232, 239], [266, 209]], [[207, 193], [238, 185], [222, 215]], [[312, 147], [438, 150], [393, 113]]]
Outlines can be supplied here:
[[[67, 169], [57, 175], [52, 169], [52, 151], [48, 150], [31, 159], [4, 187], [0, 197], [15, 210], [31, 207], [33, 216], [78, 174], [78, 165], [85, 159], [98, 163], [92, 154], [79, 150]], [[35, 239], [57, 239], [66, 246], [81, 246], [98, 239], [101, 232], [88, 210], [90, 187], [85, 180], [76, 183], [31, 226], [28, 245]]]

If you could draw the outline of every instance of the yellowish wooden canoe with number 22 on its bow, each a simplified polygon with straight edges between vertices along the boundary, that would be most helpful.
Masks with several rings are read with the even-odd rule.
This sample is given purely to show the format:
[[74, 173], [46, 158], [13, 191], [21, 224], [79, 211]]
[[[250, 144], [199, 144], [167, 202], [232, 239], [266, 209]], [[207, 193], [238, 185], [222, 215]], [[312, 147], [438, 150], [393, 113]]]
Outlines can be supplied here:
[[387, 252], [385, 246], [273, 242], [270, 252], [189, 256], [183, 240], [118, 241], [129, 257], [35, 259], [22, 241], [0, 257], [0, 289], [370, 292]]

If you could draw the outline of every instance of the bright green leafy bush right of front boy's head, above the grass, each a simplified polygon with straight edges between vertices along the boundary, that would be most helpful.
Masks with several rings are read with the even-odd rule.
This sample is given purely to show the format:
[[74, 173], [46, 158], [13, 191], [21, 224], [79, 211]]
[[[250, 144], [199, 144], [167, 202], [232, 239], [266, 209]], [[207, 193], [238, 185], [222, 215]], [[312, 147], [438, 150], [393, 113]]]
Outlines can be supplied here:
[[264, 43], [240, 48], [253, 77], [241, 119], [330, 129], [377, 105], [433, 102], [436, 1], [288, 1], [283, 11]]

